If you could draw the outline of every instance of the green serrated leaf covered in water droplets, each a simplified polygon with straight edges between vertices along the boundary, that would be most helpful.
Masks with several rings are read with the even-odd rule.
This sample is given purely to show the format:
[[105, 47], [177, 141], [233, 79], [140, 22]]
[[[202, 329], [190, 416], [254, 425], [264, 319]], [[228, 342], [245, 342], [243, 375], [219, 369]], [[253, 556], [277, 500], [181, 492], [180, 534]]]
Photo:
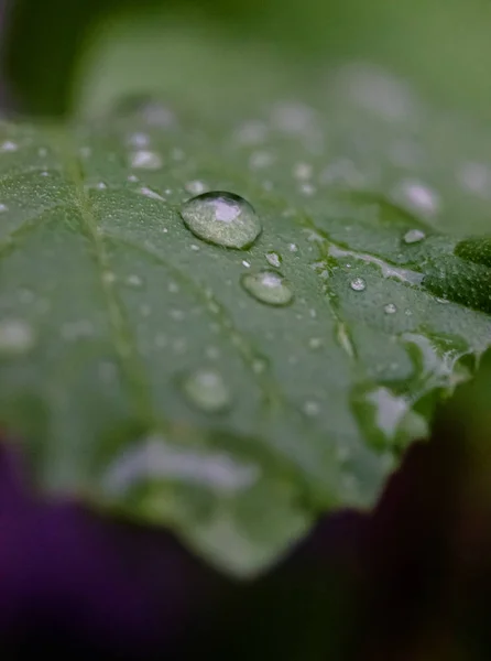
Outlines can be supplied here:
[[[461, 236], [485, 227], [487, 136], [374, 68], [275, 71], [1, 124], [2, 422], [42, 488], [241, 575], [370, 507], [491, 337], [488, 242]], [[192, 234], [204, 191], [252, 205], [248, 249]]]

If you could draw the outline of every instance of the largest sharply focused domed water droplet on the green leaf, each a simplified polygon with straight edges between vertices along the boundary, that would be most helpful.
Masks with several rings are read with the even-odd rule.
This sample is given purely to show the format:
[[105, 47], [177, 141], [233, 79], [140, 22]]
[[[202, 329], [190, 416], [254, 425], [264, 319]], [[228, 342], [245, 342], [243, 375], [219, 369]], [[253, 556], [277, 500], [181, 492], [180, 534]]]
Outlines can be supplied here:
[[261, 232], [253, 207], [233, 193], [214, 191], [193, 197], [181, 215], [198, 238], [226, 248], [247, 248]]

